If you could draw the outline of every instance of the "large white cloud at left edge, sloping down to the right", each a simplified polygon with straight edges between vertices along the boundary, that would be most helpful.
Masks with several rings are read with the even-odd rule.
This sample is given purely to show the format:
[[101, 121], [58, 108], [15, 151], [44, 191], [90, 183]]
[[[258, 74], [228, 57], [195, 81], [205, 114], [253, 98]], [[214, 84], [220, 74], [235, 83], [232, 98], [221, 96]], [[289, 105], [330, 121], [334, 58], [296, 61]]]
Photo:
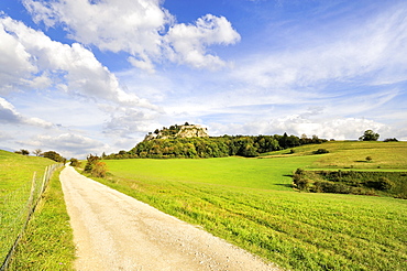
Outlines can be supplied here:
[[0, 19], [0, 35], [8, 41], [0, 45], [0, 62], [8, 63], [11, 55], [16, 64], [10, 62], [10, 65], [15, 65], [18, 71], [1, 71], [0, 79], [6, 86], [14, 84], [15, 88], [21, 85], [32, 88], [53, 85], [57, 89], [94, 99], [157, 109], [147, 100], [125, 93], [114, 74], [82, 45], [52, 41], [43, 32], [8, 17]]

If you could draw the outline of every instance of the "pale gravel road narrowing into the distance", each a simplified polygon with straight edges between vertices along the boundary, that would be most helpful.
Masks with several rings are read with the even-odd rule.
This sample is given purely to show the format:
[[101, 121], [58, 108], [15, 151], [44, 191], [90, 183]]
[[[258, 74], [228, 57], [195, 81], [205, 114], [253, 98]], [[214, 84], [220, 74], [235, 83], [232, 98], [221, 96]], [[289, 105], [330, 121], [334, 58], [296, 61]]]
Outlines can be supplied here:
[[61, 182], [77, 270], [278, 270], [70, 166]]

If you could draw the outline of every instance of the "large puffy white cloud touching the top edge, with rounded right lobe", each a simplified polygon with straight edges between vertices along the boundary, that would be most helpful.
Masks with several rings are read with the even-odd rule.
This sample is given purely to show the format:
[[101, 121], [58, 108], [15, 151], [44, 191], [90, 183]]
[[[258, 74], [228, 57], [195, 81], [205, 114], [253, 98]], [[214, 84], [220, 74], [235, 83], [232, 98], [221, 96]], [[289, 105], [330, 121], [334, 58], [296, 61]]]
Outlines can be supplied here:
[[[195, 25], [177, 24], [160, 0], [24, 0], [35, 22], [63, 25], [69, 37], [100, 50], [127, 52], [129, 62], [154, 72], [153, 62], [167, 58], [194, 67], [224, 62], [209, 54], [212, 44], [234, 44], [240, 35], [223, 17], [205, 15]], [[169, 31], [167, 30], [169, 29]]]

